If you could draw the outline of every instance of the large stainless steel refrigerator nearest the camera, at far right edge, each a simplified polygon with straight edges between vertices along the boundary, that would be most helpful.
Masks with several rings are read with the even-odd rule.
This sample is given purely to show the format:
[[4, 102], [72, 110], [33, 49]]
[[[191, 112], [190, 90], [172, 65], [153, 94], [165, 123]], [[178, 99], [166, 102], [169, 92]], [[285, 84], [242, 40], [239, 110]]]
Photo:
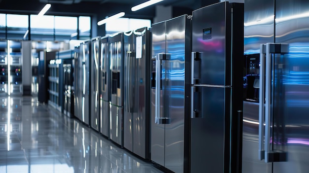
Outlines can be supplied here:
[[245, 2], [244, 53], [260, 53], [261, 66], [259, 103], [243, 103], [243, 173], [309, 170], [308, 10], [304, 0]]

